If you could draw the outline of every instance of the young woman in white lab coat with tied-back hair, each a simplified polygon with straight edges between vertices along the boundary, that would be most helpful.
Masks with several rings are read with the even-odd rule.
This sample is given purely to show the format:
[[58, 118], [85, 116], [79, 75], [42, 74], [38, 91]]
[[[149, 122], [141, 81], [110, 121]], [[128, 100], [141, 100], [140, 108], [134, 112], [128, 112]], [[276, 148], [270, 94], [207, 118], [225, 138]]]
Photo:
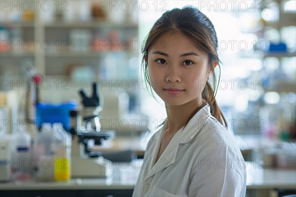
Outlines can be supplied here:
[[167, 119], [148, 142], [133, 197], [245, 196], [245, 162], [209, 82], [217, 49], [213, 24], [192, 6], [165, 12], [149, 32], [143, 68]]

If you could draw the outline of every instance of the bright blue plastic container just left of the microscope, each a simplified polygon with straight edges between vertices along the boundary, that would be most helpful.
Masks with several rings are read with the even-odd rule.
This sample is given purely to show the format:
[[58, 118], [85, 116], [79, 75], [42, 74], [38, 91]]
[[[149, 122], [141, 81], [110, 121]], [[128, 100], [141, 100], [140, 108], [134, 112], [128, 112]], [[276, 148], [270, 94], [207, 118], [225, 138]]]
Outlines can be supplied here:
[[77, 107], [77, 102], [69, 101], [61, 104], [38, 102], [36, 104], [37, 127], [42, 123], [62, 123], [65, 130], [70, 130], [70, 111]]

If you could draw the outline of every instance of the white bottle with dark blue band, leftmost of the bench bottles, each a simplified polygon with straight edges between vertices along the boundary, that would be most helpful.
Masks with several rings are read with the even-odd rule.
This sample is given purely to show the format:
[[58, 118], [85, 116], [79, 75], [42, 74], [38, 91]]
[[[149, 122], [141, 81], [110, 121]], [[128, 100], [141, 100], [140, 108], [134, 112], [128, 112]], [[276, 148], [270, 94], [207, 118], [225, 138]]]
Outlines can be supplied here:
[[31, 140], [31, 135], [23, 129], [15, 134], [15, 155], [12, 167], [17, 181], [27, 181], [32, 177]]

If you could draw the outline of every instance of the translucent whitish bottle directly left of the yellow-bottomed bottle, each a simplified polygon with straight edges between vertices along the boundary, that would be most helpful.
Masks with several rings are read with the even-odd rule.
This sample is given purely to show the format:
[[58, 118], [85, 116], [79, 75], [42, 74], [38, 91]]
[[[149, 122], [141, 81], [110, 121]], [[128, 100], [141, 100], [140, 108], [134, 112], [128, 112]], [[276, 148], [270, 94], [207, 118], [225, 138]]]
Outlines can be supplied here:
[[34, 160], [37, 180], [54, 180], [54, 152], [52, 150], [53, 130], [50, 123], [43, 123], [34, 142]]

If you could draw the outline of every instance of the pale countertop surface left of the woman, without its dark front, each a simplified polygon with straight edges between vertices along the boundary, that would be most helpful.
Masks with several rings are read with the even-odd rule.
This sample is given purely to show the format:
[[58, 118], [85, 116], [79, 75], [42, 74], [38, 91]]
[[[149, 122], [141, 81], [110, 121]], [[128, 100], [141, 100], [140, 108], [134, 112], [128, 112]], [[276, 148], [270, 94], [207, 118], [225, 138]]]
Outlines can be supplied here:
[[73, 178], [69, 181], [0, 183], [0, 190], [133, 190], [143, 160], [112, 164], [113, 173], [107, 178]]

